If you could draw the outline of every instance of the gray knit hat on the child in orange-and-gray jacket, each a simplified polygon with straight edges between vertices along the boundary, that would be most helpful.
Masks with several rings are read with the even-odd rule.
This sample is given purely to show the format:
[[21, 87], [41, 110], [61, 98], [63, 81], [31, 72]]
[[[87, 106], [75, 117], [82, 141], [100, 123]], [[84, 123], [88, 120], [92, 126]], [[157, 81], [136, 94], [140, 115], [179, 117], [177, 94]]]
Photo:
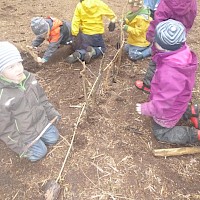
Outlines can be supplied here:
[[35, 35], [43, 35], [49, 30], [49, 24], [43, 17], [34, 17], [31, 19], [31, 29]]

